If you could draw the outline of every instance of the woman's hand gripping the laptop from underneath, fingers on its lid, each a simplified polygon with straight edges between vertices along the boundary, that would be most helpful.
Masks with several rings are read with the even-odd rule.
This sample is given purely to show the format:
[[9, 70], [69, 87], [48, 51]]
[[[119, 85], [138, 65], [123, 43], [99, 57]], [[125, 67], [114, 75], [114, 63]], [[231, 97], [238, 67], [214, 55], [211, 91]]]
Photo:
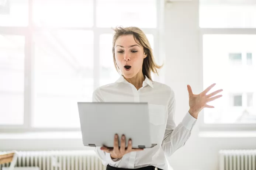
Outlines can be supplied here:
[[143, 151], [143, 149], [141, 149], [141, 148], [132, 149], [132, 140], [131, 139], [129, 139], [128, 147], [125, 148], [125, 146], [126, 146], [125, 145], [125, 135], [122, 135], [121, 147], [119, 148], [119, 145], [118, 145], [118, 134], [115, 134], [115, 137], [114, 137], [114, 148], [108, 148], [108, 147], [103, 146], [100, 149], [102, 151], [110, 153], [111, 158], [122, 158], [122, 156], [124, 156], [125, 154], [127, 154], [129, 152]]

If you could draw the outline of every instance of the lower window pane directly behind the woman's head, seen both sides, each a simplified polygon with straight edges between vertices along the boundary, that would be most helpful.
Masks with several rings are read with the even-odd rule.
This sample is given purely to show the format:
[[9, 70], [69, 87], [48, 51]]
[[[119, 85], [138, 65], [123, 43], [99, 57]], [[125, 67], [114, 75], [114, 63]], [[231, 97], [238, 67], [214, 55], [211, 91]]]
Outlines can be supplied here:
[[[146, 34], [149, 43], [153, 49], [154, 37], [152, 34]], [[100, 35], [100, 86], [114, 83], [120, 75], [114, 66], [112, 54], [112, 34]]]

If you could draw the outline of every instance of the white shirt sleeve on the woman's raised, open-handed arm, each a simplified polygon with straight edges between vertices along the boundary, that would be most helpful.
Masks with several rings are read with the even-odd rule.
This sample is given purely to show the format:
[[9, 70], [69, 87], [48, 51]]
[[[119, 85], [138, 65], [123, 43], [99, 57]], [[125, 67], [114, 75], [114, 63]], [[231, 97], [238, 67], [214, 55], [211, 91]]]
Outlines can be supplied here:
[[171, 90], [170, 99], [168, 101], [168, 119], [165, 135], [162, 142], [163, 151], [167, 156], [171, 156], [177, 149], [183, 147], [191, 135], [191, 130], [196, 124], [197, 119], [186, 113], [183, 120], [178, 126], [174, 123], [174, 112], [176, 102], [174, 91]]

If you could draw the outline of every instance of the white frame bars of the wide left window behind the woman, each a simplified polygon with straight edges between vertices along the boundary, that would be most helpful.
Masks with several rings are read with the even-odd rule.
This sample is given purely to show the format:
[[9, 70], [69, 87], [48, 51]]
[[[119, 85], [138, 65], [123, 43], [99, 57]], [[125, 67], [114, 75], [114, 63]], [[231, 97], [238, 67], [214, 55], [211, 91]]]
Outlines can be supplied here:
[[[100, 35], [101, 34], [112, 34], [113, 29], [111, 28], [98, 28], [96, 26], [96, 5], [97, 0], [93, 1], [93, 26], [92, 27], [47, 27], [51, 30], [92, 30], [94, 36], [94, 59], [93, 59], [93, 79], [94, 79], [94, 90], [100, 84], [100, 52], [98, 47], [100, 46]], [[165, 59], [164, 53], [164, 0], [156, 0], [156, 28], [142, 28], [145, 34], [152, 34], [154, 37], [154, 53], [155, 59], [158, 63], [163, 63]], [[33, 0], [28, 0], [28, 25], [27, 26], [0, 26], [0, 34], [6, 35], [22, 35], [25, 36], [25, 62], [24, 62], [24, 124], [22, 125], [1, 125], [0, 131], [3, 133], [13, 132], [41, 132], [41, 131], [79, 131], [80, 128], [37, 128], [32, 127], [32, 116], [33, 116], [33, 102], [34, 102], [34, 48], [35, 44], [32, 41], [34, 32], [40, 30], [40, 27], [33, 26], [32, 21], [32, 4]], [[44, 28], [45, 29], [45, 28]], [[161, 76], [153, 74], [155, 81], [164, 82], [164, 68], [159, 71]]]

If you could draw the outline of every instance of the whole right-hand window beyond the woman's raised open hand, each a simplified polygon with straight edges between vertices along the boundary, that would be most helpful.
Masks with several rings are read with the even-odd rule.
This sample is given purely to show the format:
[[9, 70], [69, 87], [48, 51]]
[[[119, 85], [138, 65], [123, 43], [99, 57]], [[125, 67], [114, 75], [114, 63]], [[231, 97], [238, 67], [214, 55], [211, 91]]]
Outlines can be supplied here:
[[255, 12], [255, 1], [200, 1], [204, 88], [214, 82], [224, 90], [204, 109], [206, 127], [256, 125]]

